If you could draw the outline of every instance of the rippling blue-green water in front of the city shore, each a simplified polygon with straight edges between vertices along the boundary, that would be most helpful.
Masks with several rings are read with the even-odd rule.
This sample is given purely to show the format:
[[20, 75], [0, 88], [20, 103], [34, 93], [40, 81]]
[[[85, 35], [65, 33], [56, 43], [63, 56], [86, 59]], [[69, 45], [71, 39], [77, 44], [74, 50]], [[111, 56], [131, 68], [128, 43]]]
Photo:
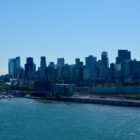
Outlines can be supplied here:
[[0, 99], [0, 140], [140, 140], [140, 108]]

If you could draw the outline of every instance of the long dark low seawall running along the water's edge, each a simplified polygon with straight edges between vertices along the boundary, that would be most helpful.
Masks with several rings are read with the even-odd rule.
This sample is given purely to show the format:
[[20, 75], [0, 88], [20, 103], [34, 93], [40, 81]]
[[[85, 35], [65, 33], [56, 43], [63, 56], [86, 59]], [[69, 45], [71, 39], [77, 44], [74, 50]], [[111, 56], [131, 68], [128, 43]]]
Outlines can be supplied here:
[[90, 104], [103, 104], [103, 105], [115, 105], [115, 106], [128, 106], [128, 107], [140, 107], [140, 101], [137, 100], [119, 100], [119, 99], [100, 99], [100, 98], [87, 98], [87, 97], [61, 97], [61, 98], [40, 98], [40, 97], [26, 97], [39, 100], [51, 100], [51, 101], [64, 101], [75, 103], [90, 103]]

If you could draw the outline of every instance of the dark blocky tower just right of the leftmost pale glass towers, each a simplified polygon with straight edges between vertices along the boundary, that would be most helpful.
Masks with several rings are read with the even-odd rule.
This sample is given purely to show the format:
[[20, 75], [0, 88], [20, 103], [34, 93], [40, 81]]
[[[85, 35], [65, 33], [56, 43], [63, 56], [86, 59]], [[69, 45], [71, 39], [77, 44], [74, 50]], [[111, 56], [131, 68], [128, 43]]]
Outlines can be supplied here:
[[33, 58], [28, 57], [26, 59], [26, 64], [25, 64], [25, 78], [28, 80], [33, 80], [35, 76], [35, 71], [36, 71], [36, 65], [33, 62]]

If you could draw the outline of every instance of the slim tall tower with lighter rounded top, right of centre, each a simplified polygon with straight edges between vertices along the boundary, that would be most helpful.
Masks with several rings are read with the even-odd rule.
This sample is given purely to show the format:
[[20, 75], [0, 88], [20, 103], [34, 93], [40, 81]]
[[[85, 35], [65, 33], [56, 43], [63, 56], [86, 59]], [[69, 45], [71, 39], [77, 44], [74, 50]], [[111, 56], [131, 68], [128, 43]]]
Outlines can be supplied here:
[[102, 52], [101, 54], [101, 60], [102, 60], [102, 66], [105, 68], [109, 67], [109, 59], [108, 59], [108, 53]]

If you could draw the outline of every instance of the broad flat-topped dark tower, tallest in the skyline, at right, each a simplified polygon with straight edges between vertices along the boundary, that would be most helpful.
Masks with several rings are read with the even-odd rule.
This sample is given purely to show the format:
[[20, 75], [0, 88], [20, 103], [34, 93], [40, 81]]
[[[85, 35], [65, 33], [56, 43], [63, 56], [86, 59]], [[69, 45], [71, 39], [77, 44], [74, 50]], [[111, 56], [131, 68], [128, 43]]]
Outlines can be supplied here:
[[118, 50], [118, 57], [116, 58], [116, 64], [121, 64], [125, 60], [131, 60], [131, 52], [128, 50]]

